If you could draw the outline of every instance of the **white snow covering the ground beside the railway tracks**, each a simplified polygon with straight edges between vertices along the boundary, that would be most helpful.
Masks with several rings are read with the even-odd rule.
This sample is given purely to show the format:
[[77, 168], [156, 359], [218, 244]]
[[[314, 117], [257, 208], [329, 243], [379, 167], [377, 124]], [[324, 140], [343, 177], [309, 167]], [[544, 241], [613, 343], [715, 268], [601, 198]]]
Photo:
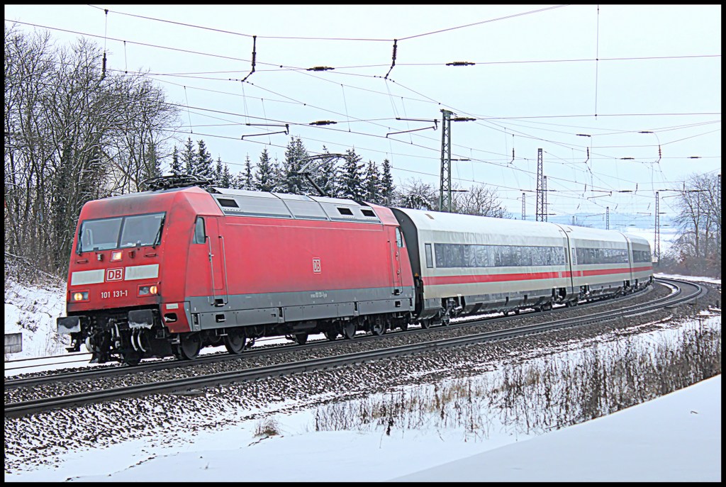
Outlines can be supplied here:
[[[659, 274], [661, 277], [674, 277]], [[720, 284], [719, 279], [682, 277]], [[8, 283], [6, 283], [7, 286]], [[26, 320], [23, 347], [48, 349], [65, 290], [15, 289], [6, 332]], [[32, 304], [30, 304], [32, 302]], [[33, 311], [35, 310], [35, 311]], [[706, 318], [720, 327], [720, 310]], [[702, 326], [691, 322], [690, 326]], [[30, 329], [35, 332], [30, 332]], [[666, 340], [663, 330], [643, 340]], [[27, 335], [27, 338], [26, 338]], [[62, 348], [61, 348], [62, 351]], [[15, 359], [16, 356], [13, 356]], [[720, 375], [645, 404], [544, 435], [493, 427], [486, 435], [423, 428], [319, 432], [316, 409], [259, 422], [68, 451], [49, 465], [5, 472], [6, 481], [720, 481]]]

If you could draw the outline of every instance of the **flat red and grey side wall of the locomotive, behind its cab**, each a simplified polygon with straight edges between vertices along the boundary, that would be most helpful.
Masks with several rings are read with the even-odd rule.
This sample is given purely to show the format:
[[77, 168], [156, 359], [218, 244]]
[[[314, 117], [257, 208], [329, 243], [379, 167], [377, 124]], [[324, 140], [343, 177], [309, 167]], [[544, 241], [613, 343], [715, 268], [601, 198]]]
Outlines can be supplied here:
[[192, 331], [412, 309], [410, 270], [391, 225], [228, 215], [218, 226], [207, 239], [221, 244], [211, 265], [203, 263], [208, 243], [190, 250]]

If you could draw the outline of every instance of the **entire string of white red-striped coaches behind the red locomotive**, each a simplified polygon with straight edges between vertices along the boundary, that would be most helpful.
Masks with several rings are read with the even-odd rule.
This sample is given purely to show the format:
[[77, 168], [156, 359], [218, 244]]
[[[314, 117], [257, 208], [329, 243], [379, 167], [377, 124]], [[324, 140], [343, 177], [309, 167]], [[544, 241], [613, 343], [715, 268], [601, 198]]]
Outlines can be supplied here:
[[[407, 242], [416, 314], [551, 308], [652, 281], [648, 242], [611, 230], [393, 208]], [[635, 266], [632, 265], [635, 258]]]

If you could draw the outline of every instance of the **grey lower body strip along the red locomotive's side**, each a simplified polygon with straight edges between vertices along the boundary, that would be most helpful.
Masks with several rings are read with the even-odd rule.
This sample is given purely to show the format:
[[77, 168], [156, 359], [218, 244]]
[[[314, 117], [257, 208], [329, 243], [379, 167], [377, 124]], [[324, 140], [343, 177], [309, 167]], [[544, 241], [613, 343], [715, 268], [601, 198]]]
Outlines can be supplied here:
[[187, 300], [192, 314], [192, 331], [200, 331], [413, 311], [413, 287], [399, 287], [398, 290], [399, 294], [394, 294], [393, 287], [381, 287], [224, 295], [227, 302], [223, 306], [215, 306], [213, 296]]

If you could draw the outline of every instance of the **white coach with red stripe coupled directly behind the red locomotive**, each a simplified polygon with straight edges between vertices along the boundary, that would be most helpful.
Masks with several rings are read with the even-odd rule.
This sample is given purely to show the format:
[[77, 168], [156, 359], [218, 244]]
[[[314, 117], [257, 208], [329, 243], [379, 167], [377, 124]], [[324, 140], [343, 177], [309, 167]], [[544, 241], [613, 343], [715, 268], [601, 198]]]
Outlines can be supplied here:
[[577, 297], [559, 226], [405, 208], [393, 214], [409, 245], [424, 325]]

